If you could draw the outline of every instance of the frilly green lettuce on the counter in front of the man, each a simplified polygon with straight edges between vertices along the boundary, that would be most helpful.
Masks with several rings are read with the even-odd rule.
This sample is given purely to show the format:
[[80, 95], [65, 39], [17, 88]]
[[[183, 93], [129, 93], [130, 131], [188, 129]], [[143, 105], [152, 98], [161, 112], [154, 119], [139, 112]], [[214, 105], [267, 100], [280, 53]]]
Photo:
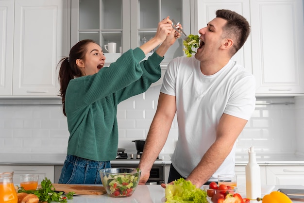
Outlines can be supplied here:
[[183, 178], [166, 185], [165, 198], [166, 203], [208, 203], [207, 193]]

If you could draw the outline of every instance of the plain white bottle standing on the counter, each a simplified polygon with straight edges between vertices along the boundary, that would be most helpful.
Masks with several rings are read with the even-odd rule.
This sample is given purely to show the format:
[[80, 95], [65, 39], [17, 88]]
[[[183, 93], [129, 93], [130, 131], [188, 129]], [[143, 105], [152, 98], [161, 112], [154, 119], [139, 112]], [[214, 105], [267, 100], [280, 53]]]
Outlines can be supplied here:
[[246, 172], [246, 197], [251, 200], [256, 200], [261, 197], [261, 171], [260, 166], [256, 163], [254, 147], [249, 151], [249, 161], [245, 167]]

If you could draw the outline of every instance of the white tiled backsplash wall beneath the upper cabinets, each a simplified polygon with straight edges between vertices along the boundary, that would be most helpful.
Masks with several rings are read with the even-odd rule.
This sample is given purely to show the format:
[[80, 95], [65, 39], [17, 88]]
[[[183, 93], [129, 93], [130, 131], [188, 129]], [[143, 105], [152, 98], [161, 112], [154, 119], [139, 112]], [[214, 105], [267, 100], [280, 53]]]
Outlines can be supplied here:
[[[160, 85], [118, 105], [119, 148], [136, 152], [132, 140], [144, 139], [156, 111]], [[237, 152], [254, 145], [260, 152], [303, 153], [304, 97], [258, 98], [253, 117], [237, 140]], [[13, 105], [12, 105], [13, 104]], [[163, 152], [177, 140], [174, 119]], [[0, 152], [66, 152], [67, 121], [61, 101], [0, 99]]]

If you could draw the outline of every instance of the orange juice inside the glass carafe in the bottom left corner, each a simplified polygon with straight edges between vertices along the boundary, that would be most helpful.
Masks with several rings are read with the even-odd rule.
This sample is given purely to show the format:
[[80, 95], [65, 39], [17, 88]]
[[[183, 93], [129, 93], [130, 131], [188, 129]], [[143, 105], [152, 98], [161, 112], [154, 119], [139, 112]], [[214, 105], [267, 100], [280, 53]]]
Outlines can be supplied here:
[[13, 183], [0, 183], [0, 203], [18, 203]]

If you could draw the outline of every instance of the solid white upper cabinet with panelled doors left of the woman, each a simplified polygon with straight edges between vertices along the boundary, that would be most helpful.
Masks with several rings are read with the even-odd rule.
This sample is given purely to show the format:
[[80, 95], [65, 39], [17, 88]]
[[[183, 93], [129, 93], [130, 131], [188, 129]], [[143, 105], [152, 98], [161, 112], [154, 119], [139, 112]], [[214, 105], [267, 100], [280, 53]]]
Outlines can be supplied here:
[[58, 95], [56, 68], [67, 54], [67, 0], [0, 0], [0, 13], [0, 95]]

